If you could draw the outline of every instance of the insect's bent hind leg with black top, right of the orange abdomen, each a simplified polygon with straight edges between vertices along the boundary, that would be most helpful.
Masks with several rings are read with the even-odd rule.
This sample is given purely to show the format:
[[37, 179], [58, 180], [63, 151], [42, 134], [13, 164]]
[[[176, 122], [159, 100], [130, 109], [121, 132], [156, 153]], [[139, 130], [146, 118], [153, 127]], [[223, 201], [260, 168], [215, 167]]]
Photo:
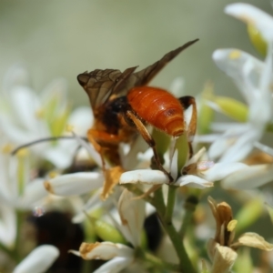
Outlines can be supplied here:
[[192, 106], [192, 114], [190, 118], [190, 122], [187, 129], [187, 137], [188, 137], [188, 147], [189, 147], [189, 158], [193, 156], [193, 148], [192, 148], [192, 141], [193, 136], [196, 135], [197, 131], [197, 104], [196, 99], [193, 96], [181, 96], [178, 98], [180, 104], [183, 106], [185, 110], [189, 106]]

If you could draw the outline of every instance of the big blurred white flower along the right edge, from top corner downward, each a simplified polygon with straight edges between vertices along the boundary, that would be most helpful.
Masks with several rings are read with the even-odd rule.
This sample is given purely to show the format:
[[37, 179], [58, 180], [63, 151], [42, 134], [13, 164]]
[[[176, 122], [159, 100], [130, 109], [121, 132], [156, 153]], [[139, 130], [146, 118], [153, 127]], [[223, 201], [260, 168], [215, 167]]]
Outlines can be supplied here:
[[217, 66], [232, 77], [248, 103], [248, 122], [233, 126], [218, 138], [208, 151], [221, 162], [239, 161], [248, 156], [266, 126], [272, 122], [272, 30], [273, 18], [248, 4], [227, 5], [226, 12], [254, 25], [268, 41], [265, 62], [238, 49], [219, 49], [213, 54]]

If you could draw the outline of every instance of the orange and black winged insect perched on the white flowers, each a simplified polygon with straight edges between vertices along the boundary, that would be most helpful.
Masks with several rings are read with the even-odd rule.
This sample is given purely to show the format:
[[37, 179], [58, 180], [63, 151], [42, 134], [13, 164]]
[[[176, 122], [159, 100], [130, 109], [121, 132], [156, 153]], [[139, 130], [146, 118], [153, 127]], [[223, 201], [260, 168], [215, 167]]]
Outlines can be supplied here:
[[[88, 130], [87, 137], [101, 155], [103, 165], [105, 158], [120, 165], [119, 143], [131, 141], [138, 131], [152, 147], [157, 167], [167, 175], [170, 182], [173, 181], [160, 162], [155, 140], [147, 131], [146, 125], [150, 124], [169, 136], [181, 136], [186, 131], [184, 110], [193, 106], [187, 136], [194, 136], [197, 123], [195, 99], [192, 96], [176, 98], [167, 90], [147, 84], [169, 61], [197, 40], [187, 42], [138, 72], [135, 72], [137, 66], [134, 66], [124, 72], [117, 69], [96, 69], [77, 76], [79, 84], [89, 96], [95, 116], [95, 123]], [[191, 140], [191, 151], [190, 142]]]

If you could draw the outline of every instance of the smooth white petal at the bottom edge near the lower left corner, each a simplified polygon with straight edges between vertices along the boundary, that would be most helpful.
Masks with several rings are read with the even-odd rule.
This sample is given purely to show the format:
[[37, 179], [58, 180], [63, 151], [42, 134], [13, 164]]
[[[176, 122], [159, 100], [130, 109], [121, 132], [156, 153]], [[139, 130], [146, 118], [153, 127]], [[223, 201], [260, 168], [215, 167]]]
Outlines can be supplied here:
[[35, 248], [15, 268], [14, 273], [43, 273], [49, 268], [59, 256], [59, 250], [50, 245]]

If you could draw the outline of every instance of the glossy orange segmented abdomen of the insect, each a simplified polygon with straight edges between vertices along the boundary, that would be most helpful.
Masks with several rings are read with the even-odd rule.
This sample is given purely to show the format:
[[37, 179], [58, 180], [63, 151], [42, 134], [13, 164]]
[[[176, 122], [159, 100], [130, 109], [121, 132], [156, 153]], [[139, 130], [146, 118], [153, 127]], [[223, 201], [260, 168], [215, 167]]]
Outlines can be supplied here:
[[166, 90], [140, 86], [132, 88], [127, 100], [138, 116], [170, 136], [184, 132], [183, 107], [177, 98]]

